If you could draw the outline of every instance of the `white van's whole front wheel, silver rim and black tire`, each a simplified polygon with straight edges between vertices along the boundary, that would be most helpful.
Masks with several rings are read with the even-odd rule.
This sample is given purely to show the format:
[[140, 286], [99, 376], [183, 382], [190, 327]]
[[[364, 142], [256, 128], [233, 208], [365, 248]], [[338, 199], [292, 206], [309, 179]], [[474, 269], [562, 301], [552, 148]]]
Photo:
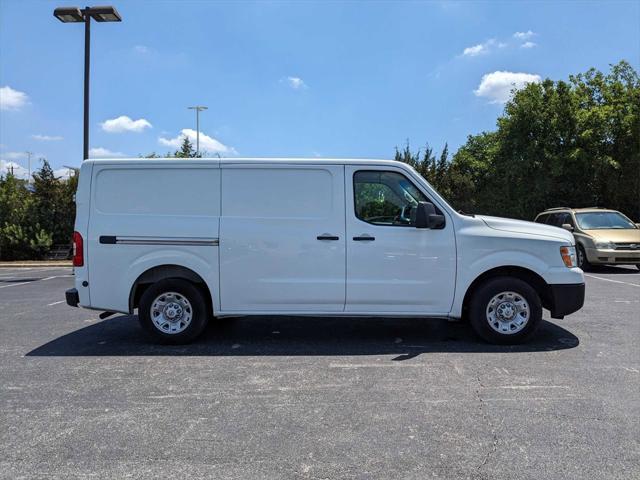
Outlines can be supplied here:
[[513, 277], [492, 278], [473, 294], [469, 319], [474, 331], [489, 343], [513, 345], [528, 340], [542, 320], [535, 289]]

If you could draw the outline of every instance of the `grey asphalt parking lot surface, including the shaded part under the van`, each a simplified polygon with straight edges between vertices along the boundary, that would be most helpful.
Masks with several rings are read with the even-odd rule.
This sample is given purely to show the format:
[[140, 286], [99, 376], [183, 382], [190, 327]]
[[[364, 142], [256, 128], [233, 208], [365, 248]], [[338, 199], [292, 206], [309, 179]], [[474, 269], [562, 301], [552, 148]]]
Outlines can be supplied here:
[[[2, 478], [640, 478], [640, 272], [518, 347], [445, 320], [238, 318], [189, 346], [0, 269]], [[545, 312], [545, 319], [549, 319]]]

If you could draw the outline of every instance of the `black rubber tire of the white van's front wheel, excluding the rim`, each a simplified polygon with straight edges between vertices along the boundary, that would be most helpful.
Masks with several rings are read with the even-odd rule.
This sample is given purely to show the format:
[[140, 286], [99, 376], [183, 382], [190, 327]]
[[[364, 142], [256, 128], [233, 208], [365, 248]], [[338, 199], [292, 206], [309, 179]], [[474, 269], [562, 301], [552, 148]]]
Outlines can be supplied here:
[[[514, 292], [529, 304], [527, 321], [515, 333], [500, 333], [494, 330], [487, 318], [489, 302], [502, 292]], [[542, 303], [535, 289], [527, 282], [515, 277], [496, 277], [487, 280], [473, 293], [469, 303], [469, 321], [480, 338], [498, 345], [516, 345], [527, 341], [542, 321]]]

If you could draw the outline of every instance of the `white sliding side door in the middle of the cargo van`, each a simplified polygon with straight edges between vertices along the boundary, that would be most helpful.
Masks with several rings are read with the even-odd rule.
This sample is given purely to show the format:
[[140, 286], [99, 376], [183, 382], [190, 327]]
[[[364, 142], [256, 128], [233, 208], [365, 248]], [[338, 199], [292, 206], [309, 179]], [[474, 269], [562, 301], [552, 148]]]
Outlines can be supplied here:
[[344, 167], [222, 166], [221, 309], [342, 311]]

